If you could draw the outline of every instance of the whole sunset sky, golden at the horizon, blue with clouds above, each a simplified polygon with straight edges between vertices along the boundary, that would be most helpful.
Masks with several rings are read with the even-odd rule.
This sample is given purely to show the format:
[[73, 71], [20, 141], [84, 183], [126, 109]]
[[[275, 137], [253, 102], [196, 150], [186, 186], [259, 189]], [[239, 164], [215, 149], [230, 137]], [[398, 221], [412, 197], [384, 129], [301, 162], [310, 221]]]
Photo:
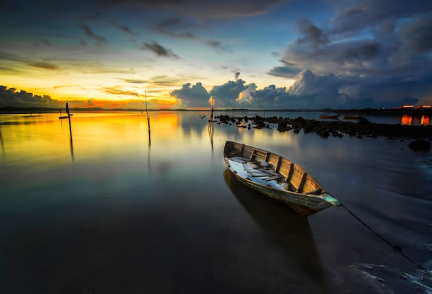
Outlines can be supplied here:
[[431, 32], [424, 0], [2, 0], [0, 107], [432, 104]]

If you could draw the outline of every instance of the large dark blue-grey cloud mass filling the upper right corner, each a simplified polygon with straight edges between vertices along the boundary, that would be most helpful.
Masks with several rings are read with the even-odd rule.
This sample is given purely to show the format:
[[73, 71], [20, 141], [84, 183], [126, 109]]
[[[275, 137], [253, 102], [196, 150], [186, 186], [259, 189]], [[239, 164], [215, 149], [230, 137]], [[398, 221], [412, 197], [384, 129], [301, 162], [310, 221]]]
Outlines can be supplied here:
[[429, 75], [432, 5], [416, 0], [412, 4], [362, 1], [338, 10], [330, 26], [319, 27], [304, 19], [297, 23], [301, 36], [286, 48], [281, 60], [291, 64], [291, 70], [306, 68], [318, 74], [386, 79], [400, 72], [412, 75], [421, 66], [428, 68]]

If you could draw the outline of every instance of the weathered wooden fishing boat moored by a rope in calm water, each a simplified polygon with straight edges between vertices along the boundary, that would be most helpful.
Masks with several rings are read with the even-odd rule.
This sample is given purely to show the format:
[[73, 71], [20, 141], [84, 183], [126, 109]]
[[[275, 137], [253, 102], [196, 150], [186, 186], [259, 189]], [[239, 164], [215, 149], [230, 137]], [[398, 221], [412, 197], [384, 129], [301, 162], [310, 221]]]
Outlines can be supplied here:
[[226, 141], [224, 161], [240, 182], [279, 199], [304, 217], [341, 205], [306, 170], [275, 153]]

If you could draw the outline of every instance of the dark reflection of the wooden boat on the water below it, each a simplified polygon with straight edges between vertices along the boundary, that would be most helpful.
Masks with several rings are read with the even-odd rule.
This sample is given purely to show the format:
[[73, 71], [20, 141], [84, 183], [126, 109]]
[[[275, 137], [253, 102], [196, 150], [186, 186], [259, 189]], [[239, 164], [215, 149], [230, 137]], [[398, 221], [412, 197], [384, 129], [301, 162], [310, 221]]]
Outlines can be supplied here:
[[293, 260], [290, 276], [301, 280], [313, 280], [325, 287], [324, 273], [317, 253], [308, 219], [269, 197], [262, 197], [237, 181], [233, 173], [226, 169], [224, 179], [238, 202], [251, 215], [253, 220]]

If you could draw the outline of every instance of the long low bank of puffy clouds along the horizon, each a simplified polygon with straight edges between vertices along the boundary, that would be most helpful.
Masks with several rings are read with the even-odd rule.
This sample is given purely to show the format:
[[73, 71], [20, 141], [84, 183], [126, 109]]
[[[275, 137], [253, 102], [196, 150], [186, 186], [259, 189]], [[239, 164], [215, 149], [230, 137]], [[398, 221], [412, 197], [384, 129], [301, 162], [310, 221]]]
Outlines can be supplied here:
[[[411, 89], [418, 88], [418, 91]], [[421, 90], [420, 90], [421, 89]], [[355, 75], [315, 75], [311, 70], [303, 70], [295, 77], [289, 88], [275, 85], [257, 90], [255, 84], [242, 79], [228, 81], [214, 86], [215, 107], [255, 108], [255, 109], [322, 109], [322, 108], [395, 108], [404, 104], [417, 104], [424, 98], [424, 89], [432, 91], [432, 80], [411, 81], [401, 84], [397, 80], [382, 84], [375, 78], [362, 78]], [[184, 106], [208, 107], [208, 92], [201, 83], [171, 93], [181, 99]]]

